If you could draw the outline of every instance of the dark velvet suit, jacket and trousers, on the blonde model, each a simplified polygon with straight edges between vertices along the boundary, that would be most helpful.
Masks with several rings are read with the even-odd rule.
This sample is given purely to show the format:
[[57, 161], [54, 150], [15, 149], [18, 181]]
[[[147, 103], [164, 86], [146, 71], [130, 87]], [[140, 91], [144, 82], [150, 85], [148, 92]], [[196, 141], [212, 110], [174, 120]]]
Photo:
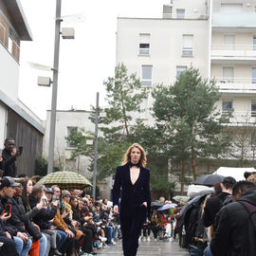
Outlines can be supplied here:
[[[137, 181], [133, 184], [130, 177], [129, 163], [119, 166], [112, 191], [113, 206], [119, 206], [121, 188], [119, 210], [124, 256], [135, 256], [137, 254], [138, 237], [151, 206], [150, 171], [143, 167], [139, 168]], [[147, 202], [147, 208], [142, 205], [143, 202]]]

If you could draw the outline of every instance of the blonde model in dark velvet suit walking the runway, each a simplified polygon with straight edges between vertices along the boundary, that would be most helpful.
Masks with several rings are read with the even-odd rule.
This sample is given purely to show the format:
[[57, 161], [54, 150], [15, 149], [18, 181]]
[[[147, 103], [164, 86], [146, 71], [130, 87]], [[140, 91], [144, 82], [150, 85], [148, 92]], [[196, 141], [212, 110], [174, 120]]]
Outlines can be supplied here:
[[138, 237], [147, 213], [150, 212], [150, 171], [145, 168], [146, 160], [144, 149], [134, 143], [127, 150], [123, 165], [119, 166], [116, 172], [112, 196], [114, 213], [120, 213], [124, 256], [137, 255]]

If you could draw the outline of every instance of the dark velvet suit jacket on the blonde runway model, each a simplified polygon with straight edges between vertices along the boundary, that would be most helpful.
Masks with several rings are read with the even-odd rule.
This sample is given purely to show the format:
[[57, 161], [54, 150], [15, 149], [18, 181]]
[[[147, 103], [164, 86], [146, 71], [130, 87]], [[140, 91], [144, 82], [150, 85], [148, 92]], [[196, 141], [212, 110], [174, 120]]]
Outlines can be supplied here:
[[119, 206], [119, 192], [121, 188], [120, 213], [129, 213], [131, 210], [140, 207], [147, 202], [147, 210], [150, 212], [150, 171], [140, 167], [140, 172], [135, 184], [130, 177], [130, 166], [125, 164], [117, 168], [115, 183], [112, 190], [113, 206]]

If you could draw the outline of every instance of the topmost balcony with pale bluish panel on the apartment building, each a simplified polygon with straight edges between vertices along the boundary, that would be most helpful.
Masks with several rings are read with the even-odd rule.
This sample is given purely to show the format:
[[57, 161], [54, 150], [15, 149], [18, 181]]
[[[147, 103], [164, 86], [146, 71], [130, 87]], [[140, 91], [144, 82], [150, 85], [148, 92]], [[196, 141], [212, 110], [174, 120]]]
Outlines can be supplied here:
[[214, 31], [233, 31], [235, 29], [241, 30], [241, 28], [254, 31], [255, 27], [256, 12], [212, 13], [212, 30]]

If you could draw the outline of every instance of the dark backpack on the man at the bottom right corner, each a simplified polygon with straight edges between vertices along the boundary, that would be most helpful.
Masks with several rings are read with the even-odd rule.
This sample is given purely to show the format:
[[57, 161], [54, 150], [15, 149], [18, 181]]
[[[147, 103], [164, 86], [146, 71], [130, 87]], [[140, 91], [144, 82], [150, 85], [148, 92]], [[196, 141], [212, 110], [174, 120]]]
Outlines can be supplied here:
[[256, 206], [246, 201], [238, 201], [248, 212], [248, 251], [247, 256], [256, 255]]

